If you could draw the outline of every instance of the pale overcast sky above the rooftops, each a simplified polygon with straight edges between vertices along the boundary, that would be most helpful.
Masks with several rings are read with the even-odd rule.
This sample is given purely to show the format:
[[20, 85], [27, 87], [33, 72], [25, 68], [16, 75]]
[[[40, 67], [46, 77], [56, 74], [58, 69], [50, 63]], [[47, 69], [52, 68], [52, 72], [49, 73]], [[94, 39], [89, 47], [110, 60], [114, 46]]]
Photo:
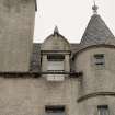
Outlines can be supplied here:
[[[95, 0], [99, 14], [115, 35], [115, 0]], [[90, 21], [93, 0], [37, 0], [34, 42], [42, 43], [55, 25], [70, 43], [80, 42]]]

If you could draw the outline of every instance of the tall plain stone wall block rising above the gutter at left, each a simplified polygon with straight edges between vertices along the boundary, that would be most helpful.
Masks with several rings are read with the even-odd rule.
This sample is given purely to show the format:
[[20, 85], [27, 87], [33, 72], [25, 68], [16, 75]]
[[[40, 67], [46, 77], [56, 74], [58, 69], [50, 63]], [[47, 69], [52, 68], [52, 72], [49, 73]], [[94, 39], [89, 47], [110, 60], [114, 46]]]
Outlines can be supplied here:
[[0, 0], [0, 71], [28, 71], [34, 0]]

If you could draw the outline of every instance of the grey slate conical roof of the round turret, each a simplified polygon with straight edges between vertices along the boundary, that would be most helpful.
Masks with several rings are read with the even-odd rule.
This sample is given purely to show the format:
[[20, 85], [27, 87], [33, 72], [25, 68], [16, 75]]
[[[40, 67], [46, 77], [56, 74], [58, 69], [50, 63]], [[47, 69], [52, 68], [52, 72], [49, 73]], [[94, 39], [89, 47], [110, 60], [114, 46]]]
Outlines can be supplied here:
[[106, 44], [115, 39], [99, 14], [93, 14], [82, 36], [81, 44]]

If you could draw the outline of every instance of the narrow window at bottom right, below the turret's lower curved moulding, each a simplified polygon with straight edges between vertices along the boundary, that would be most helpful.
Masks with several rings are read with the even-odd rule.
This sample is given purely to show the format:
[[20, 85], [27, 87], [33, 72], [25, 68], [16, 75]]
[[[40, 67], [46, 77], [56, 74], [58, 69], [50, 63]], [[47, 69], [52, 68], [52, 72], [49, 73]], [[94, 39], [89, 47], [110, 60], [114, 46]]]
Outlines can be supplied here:
[[99, 111], [99, 115], [110, 115], [107, 105], [99, 105], [97, 111]]

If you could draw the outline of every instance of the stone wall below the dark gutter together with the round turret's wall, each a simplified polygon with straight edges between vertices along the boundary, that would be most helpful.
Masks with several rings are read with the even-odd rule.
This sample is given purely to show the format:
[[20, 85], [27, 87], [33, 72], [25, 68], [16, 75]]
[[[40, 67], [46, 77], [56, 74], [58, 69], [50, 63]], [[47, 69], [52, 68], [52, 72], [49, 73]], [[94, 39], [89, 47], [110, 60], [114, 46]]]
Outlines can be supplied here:
[[[105, 54], [105, 68], [95, 69], [92, 56]], [[115, 49], [91, 48], [76, 58], [76, 70], [82, 78], [66, 77], [62, 82], [49, 82], [45, 77], [0, 76], [1, 115], [45, 115], [46, 105], [65, 105], [66, 115], [97, 115], [97, 105], [108, 105], [115, 114]], [[99, 92], [110, 94], [97, 95]], [[112, 94], [113, 92], [113, 94]], [[95, 94], [95, 95], [92, 95]], [[90, 96], [88, 96], [90, 95]], [[84, 97], [78, 101], [80, 97]]]

